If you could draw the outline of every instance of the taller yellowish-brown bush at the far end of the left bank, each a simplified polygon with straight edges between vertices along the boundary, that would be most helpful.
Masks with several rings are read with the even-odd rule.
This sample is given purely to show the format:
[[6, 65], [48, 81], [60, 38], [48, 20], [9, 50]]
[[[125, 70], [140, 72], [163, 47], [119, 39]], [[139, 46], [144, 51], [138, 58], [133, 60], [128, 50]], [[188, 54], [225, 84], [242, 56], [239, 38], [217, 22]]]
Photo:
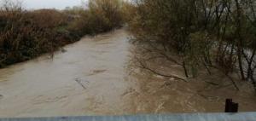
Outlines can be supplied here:
[[120, 0], [90, 0], [88, 9], [79, 12], [70, 30], [84, 34], [108, 32], [123, 25]]

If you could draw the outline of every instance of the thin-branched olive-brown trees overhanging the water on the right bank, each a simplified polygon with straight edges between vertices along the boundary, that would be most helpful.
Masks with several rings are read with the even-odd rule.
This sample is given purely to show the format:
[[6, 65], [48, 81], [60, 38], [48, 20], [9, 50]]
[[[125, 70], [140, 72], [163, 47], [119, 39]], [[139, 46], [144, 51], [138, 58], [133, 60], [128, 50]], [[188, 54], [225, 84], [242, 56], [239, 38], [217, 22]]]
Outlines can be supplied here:
[[187, 78], [202, 66], [209, 74], [217, 68], [239, 73], [256, 89], [255, 0], [134, 0], [131, 6], [137, 42], [183, 66]]

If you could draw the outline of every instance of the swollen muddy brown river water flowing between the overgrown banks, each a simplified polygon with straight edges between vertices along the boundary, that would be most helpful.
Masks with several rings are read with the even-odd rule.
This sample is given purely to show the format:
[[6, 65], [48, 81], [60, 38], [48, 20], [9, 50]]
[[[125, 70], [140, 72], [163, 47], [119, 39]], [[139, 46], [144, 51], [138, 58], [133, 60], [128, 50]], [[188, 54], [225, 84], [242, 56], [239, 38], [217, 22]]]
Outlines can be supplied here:
[[223, 112], [229, 97], [241, 111], [256, 111], [249, 84], [236, 91], [201, 81], [214, 76], [185, 83], [129, 66], [128, 37], [124, 29], [84, 37], [53, 59], [43, 55], [1, 69], [0, 117]]

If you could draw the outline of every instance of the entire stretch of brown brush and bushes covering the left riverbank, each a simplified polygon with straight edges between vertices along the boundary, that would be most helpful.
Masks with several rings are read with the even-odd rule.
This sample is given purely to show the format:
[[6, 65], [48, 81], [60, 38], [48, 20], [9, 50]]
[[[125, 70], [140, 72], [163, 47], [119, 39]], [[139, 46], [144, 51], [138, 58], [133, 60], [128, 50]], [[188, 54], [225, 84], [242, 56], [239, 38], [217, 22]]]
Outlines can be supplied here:
[[119, 0], [90, 0], [88, 9], [63, 11], [27, 11], [14, 0], [0, 5], [0, 67], [53, 52], [85, 34], [122, 26]]

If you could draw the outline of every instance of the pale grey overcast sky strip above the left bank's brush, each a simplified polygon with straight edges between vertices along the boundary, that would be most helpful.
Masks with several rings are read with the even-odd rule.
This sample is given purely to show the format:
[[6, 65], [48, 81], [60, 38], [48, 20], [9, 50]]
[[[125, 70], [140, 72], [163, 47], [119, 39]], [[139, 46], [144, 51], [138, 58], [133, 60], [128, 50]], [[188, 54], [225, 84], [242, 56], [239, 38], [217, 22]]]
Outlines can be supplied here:
[[[65, 9], [81, 5], [82, 0], [22, 0], [26, 9]], [[86, 1], [86, 0], [83, 0]]]

